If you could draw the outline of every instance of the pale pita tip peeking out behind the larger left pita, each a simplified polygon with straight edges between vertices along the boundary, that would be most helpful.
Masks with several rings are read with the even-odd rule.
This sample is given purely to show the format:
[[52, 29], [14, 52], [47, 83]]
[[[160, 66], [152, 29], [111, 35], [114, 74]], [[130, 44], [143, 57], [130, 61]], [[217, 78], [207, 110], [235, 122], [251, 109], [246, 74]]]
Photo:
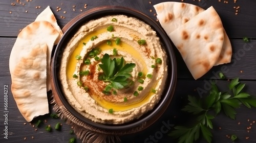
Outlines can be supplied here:
[[44, 11], [42, 11], [35, 19], [35, 21], [48, 21], [52, 24], [52, 26], [55, 28], [55, 30], [58, 31], [59, 36], [54, 42], [54, 44], [58, 44], [61, 36], [63, 35], [61, 29], [58, 26], [57, 20], [52, 13], [52, 10], [50, 9], [50, 6], [48, 6]]

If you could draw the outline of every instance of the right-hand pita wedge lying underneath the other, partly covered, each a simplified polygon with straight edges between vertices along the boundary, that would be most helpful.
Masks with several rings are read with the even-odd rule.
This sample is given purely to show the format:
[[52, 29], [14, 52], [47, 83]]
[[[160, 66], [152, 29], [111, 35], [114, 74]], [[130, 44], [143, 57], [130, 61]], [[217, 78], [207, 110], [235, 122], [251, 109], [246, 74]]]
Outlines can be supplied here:
[[[154, 5], [159, 22], [167, 34], [195, 17], [204, 9], [187, 3], [163, 2]], [[224, 43], [219, 59], [215, 65], [229, 63], [231, 61], [232, 47], [229, 38], [224, 31]]]

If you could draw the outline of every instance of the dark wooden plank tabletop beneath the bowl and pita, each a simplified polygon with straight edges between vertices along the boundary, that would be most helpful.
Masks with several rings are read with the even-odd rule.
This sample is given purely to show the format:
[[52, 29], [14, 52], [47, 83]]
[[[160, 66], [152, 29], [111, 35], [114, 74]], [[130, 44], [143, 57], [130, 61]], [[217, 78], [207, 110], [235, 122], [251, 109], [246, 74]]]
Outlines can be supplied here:
[[[67, 125], [65, 121], [59, 118], [51, 118], [48, 114], [41, 117], [47, 123], [44, 121], [41, 127], [36, 128], [33, 127], [34, 123], [32, 125], [27, 123], [17, 109], [11, 93], [9, 56], [19, 30], [34, 21], [36, 16], [47, 6], [51, 7], [60, 27], [63, 28], [78, 14], [106, 5], [134, 8], [156, 20], [153, 5], [163, 1], [27, 1], [19, 0], [18, 3], [15, 0], [3, 0], [0, 2], [0, 142], [68, 142], [69, 138], [75, 137], [75, 135], [69, 133], [71, 126]], [[205, 96], [206, 94], [201, 95], [197, 89], [207, 90], [209, 80], [215, 80], [220, 88], [225, 89], [228, 81], [219, 79], [217, 73], [220, 71], [224, 73], [227, 79], [239, 77], [242, 83], [246, 83], [245, 91], [252, 96], [256, 96], [256, 1], [237, 0], [234, 3], [233, 0], [221, 0], [221, 2], [218, 0], [201, 0], [200, 2], [198, 0], [185, 0], [184, 2], [198, 5], [204, 9], [214, 6], [223, 21], [223, 26], [232, 44], [233, 55], [231, 63], [215, 66], [205, 76], [194, 80], [176, 50], [178, 79], [172, 102], [164, 115], [155, 124], [142, 132], [121, 136], [123, 142], [176, 142], [167, 136], [166, 132], [161, 131], [161, 127], [166, 126], [166, 124], [178, 125], [188, 121], [187, 114], [180, 111], [186, 103], [187, 95]], [[84, 8], [84, 4], [87, 4], [87, 8]], [[75, 6], [75, 8], [72, 6]], [[236, 9], [233, 7], [238, 6], [240, 8], [236, 15]], [[57, 7], [61, 8], [61, 10], [56, 11]], [[245, 43], [243, 41], [242, 37], [245, 36], [249, 38], [250, 42]], [[224, 71], [223, 68], [225, 68]], [[5, 116], [4, 112], [5, 88], [8, 88], [8, 117]], [[226, 137], [226, 135], [231, 134], [238, 136], [239, 140], [237, 142], [256, 142], [256, 124], [250, 125], [252, 121], [256, 121], [256, 108], [248, 109], [245, 106], [241, 106], [237, 111], [236, 120], [231, 120], [222, 113], [216, 116], [213, 120], [213, 142], [232, 142]], [[46, 125], [54, 126], [57, 122], [63, 124], [60, 131], [53, 130], [52, 132], [47, 132], [45, 130]], [[6, 123], [8, 123], [8, 139], [4, 138], [6, 136], [4, 135]], [[251, 129], [249, 130], [250, 132], [247, 132], [247, 127], [249, 126], [251, 126]], [[171, 130], [172, 128], [166, 127], [166, 129]], [[246, 137], [249, 138], [246, 139]], [[77, 142], [81, 142], [81, 140], [77, 139]], [[199, 142], [205, 141], [201, 140]]]

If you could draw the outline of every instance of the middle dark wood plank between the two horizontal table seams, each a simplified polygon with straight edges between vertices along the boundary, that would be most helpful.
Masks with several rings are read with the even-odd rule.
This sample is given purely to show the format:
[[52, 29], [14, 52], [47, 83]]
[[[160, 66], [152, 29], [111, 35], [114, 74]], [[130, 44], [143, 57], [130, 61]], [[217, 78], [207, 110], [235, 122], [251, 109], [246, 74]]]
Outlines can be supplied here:
[[[9, 76], [9, 56], [11, 49], [16, 38], [0, 38], [2, 45], [0, 46], [0, 51], [2, 56], [0, 61], [4, 61], [0, 64], [0, 77]], [[233, 48], [233, 55], [231, 63], [218, 65], [213, 67], [206, 75], [201, 79], [219, 79], [218, 73], [222, 72], [226, 78], [236, 78], [244, 80], [256, 79], [256, 60], [254, 57], [256, 55], [256, 40], [250, 40], [250, 42], [245, 43], [240, 39], [231, 39], [231, 44]], [[177, 72], [178, 78], [193, 78], [189, 73], [180, 53], [174, 47], [176, 60], [177, 60]], [[242, 71], [242, 73], [241, 73]]]

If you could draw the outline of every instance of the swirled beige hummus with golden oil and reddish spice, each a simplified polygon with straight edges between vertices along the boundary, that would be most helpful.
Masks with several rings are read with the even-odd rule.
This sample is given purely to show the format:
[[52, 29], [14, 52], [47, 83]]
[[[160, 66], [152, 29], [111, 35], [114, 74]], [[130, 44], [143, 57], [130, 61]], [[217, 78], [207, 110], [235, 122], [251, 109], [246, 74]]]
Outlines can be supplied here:
[[[138, 44], [141, 39], [145, 44]], [[91, 56], [95, 50], [96, 55]], [[109, 84], [99, 80], [104, 54], [135, 64], [129, 86], [103, 93]], [[110, 15], [88, 21], [71, 38], [63, 52], [59, 78], [68, 102], [84, 117], [97, 123], [123, 124], [141, 117], [159, 102], [167, 78], [166, 53], [146, 23]]]

